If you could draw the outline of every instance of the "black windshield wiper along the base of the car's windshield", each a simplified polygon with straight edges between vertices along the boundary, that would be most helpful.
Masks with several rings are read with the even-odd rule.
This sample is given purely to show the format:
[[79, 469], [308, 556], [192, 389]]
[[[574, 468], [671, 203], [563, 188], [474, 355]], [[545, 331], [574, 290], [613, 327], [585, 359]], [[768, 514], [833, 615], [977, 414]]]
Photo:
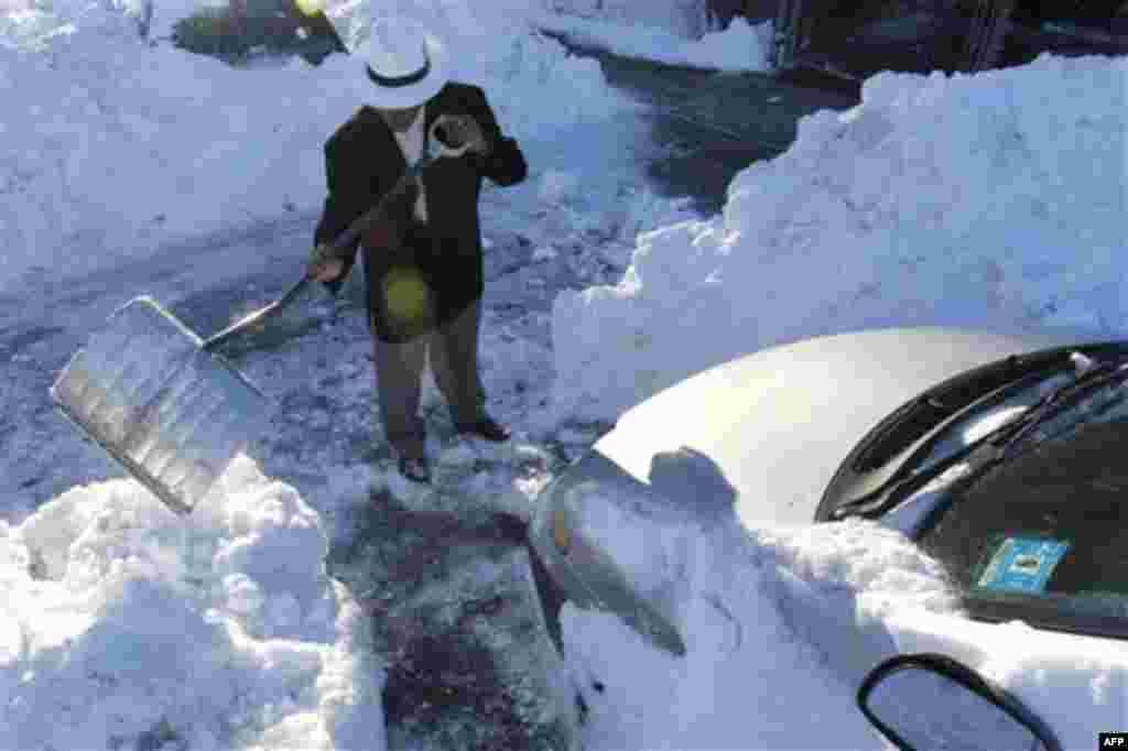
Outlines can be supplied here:
[[843, 504], [831, 512], [831, 516], [834, 519], [848, 516], [875, 519], [881, 516], [959, 463], [966, 463], [967, 469], [952, 480], [948, 488], [949, 494], [959, 487], [967, 487], [988, 468], [1013, 458], [1014, 447], [1039, 425], [1057, 416], [1086, 395], [1117, 380], [1128, 378], [1128, 362], [1125, 357], [1098, 363], [1085, 355], [1074, 353], [1070, 355], [1070, 360], [1078, 371], [1074, 380], [1054, 389], [1030, 408], [1024, 409], [1021, 414], [1015, 415], [959, 451], [953, 451], [926, 470], [909, 472], [906, 477], [890, 483], [879, 493]]

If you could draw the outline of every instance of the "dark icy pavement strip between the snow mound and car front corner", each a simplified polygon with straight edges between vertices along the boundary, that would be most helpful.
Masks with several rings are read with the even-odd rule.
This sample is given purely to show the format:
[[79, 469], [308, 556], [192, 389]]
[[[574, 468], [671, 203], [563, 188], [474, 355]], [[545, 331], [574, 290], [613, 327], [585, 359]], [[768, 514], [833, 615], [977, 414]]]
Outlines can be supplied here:
[[352, 523], [327, 563], [373, 615], [390, 749], [578, 748], [576, 689], [520, 519], [462, 494], [382, 491]]

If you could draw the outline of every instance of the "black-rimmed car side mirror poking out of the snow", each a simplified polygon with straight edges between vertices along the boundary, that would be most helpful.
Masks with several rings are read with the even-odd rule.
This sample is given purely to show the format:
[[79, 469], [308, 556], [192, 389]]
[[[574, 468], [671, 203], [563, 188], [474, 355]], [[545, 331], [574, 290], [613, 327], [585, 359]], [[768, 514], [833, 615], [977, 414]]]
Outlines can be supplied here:
[[942, 654], [885, 660], [862, 681], [857, 705], [901, 751], [1061, 751], [1016, 698]]

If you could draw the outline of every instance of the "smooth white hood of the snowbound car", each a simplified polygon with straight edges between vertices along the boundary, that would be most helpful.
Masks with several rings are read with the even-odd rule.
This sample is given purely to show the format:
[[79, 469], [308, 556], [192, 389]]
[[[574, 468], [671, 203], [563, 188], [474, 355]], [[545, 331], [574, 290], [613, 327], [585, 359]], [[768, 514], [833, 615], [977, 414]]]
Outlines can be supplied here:
[[681, 487], [729, 486], [744, 523], [805, 524], [851, 449], [896, 408], [971, 368], [1077, 341], [951, 328], [805, 339], [659, 392], [594, 449], [647, 485], [669, 466], [667, 452], [690, 457], [698, 477], [703, 462], [714, 477]]

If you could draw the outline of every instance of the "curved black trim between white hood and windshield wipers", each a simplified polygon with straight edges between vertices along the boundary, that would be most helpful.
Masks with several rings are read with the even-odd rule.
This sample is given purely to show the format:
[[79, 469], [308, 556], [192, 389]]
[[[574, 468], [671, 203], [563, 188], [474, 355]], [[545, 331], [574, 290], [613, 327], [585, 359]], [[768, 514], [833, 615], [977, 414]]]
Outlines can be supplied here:
[[861, 504], [888, 489], [927, 456], [951, 423], [1021, 388], [1028, 379], [1072, 368], [1069, 356], [1075, 352], [1095, 359], [1122, 355], [1128, 354], [1128, 343], [1099, 342], [1010, 355], [942, 381], [893, 410], [858, 441], [823, 491], [814, 521], [834, 521], [835, 509]]

